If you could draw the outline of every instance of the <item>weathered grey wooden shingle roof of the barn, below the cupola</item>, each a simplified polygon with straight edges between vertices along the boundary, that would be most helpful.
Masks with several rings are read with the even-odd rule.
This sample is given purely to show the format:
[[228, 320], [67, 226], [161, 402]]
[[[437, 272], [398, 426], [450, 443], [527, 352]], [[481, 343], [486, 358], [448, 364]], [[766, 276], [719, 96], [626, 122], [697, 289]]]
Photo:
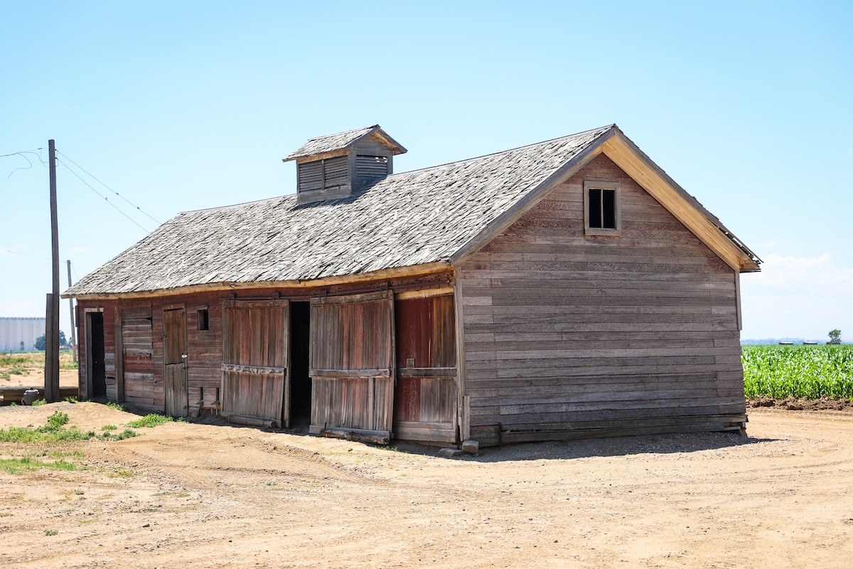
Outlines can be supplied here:
[[[620, 136], [615, 125], [608, 125], [393, 174], [339, 200], [298, 206], [295, 195], [286, 195], [184, 212], [84, 276], [63, 296], [305, 282], [422, 264], [450, 266], [543, 189], [564, 179], [570, 168]], [[706, 219], [698, 202], [689, 205], [700, 208]], [[708, 222], [713, 231], [726, 234], [716, 218]], [[731, 238], [725, 238], [729, 245]], [[741, 262], [751, 262], [744, 258]]]

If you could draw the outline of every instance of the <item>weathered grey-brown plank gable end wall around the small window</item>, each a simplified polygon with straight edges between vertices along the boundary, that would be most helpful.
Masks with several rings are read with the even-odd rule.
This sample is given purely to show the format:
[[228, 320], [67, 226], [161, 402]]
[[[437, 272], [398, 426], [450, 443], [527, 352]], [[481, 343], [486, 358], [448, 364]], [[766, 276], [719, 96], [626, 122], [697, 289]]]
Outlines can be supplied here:
[[[584, 237], [585, 179], [621, 184], [620, 237]], [[508, 441], [711, 429], [745, 413], [734, 270], [604, 155], [460, 273], [481, 442], [497, 442], [498, 423]]]

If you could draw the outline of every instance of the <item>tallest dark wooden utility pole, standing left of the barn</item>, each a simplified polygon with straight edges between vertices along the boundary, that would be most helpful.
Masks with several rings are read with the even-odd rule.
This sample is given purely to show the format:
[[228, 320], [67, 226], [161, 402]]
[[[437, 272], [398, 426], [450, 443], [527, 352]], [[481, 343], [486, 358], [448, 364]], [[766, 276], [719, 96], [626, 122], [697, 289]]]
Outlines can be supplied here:
[[53, 293], [48, 294], [44, 326], [44, 398], [59, 401], [59, 216], [56, 212], [56, 147], [48, 141], [50, 170], [50, 245], [53, 261]]

